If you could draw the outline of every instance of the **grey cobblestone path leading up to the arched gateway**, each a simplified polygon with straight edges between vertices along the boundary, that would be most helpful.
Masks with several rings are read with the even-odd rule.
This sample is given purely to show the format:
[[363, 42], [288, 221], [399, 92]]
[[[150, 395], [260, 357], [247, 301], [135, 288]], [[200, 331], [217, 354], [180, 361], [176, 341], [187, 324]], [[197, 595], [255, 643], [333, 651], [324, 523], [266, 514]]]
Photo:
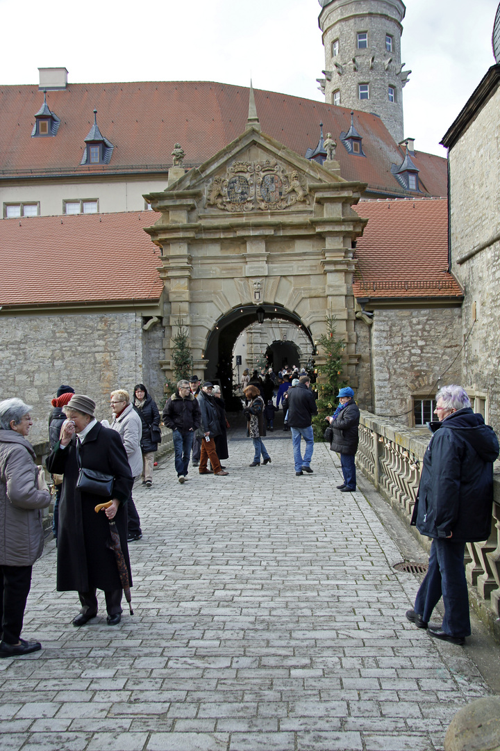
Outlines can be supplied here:
[[405, 618], [418, 587], [360, 493], [317, 445], [295, 477], [289, 434], [229, 444], [229, 477], [172, 457], [134, 497], [133, 606], [76, 629], [55, 547], [34, 566], [23, 636], [0, 661], [2, 751], [431, 751], [488, 693], [466, 650]]

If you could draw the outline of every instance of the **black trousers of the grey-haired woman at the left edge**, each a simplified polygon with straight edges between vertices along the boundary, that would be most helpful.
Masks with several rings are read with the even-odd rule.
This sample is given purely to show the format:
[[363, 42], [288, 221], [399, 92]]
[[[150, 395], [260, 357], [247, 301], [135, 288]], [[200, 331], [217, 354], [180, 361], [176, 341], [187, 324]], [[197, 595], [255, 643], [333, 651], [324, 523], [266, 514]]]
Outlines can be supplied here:
[[5, 644], [19, 644], [32, 566], [0, 566], [0, 630]]

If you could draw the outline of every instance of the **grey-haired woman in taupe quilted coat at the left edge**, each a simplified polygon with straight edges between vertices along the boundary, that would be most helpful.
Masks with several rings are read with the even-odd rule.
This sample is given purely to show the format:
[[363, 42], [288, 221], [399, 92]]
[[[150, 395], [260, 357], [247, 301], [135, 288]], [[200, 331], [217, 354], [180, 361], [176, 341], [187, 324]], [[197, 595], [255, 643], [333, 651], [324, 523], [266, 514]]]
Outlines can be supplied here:
[[31, 409], [20, 399], [0, 402], [0, 657], [41, 649], [21, 638], [31, 571], [43, 553], [42, 509], [50, 503], [28, 441]]

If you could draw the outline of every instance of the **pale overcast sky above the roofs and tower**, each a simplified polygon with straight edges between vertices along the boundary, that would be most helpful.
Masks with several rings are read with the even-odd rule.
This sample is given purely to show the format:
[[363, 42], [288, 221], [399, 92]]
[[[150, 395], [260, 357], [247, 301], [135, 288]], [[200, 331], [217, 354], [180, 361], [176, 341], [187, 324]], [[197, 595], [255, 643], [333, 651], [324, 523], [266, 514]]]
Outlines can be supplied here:
[[[442, 156], [445, 132], [494, 65], [498, 0], [406, 0], [405, 137]], [[37, 84], [65, 67], [69, 83], [213, 80], [318, 101], [325, 53], [317, 0], [0, 0], [0, 86]], [[13, 29], [13, 34], [7, 30]]]

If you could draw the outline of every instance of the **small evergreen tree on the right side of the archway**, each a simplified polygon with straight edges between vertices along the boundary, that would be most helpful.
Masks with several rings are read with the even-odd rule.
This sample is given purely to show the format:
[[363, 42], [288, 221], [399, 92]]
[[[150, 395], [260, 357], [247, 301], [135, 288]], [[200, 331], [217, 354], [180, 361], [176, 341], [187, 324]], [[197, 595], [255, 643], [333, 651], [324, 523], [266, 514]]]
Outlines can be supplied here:
[[313, 418], [316, 440], [322, 439], [325, 428], [328, 427], [325, 418], [333, 415], [338, 405], [336, 397], [339, 389], [346, 385], [346, 381], [342, 377], [342, 354], [345, 345], [335, 336], [337, 319], [331, 313], [326, 316], [325, 322], [326, 333], [318, 339], [318, 345], [322, 348], [326, 362], [319, 366], [316, 380], [318, 414]]

